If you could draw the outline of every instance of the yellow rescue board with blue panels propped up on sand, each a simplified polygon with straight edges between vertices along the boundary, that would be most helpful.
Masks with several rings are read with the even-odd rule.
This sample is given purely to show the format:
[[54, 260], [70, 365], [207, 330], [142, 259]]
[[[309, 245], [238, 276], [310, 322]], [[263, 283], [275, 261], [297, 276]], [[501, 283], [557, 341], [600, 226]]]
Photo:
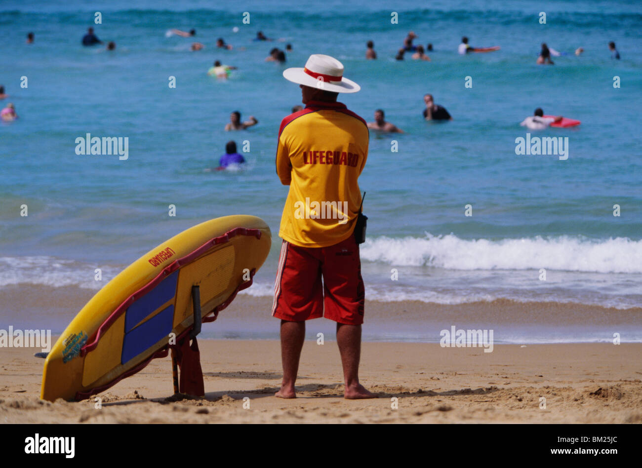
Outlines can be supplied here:
[[108, 282], [76, 315], [44, 363], [40, 398], [78, 400], [166, 353], [171, 334], [225, 308], [265, 261], [270, 228], [256, 216], [205, 221], [153, 248]]

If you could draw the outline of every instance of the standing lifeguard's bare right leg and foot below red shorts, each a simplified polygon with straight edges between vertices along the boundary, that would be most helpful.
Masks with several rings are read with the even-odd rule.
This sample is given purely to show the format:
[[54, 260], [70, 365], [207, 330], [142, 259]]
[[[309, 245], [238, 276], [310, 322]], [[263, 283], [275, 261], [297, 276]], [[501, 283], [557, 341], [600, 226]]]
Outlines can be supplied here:
[[336, 324], [336, 343], [339, 345], [347, 399], [376, 398], [359, 383], [359, 360], [361, 358], [361, 325]]

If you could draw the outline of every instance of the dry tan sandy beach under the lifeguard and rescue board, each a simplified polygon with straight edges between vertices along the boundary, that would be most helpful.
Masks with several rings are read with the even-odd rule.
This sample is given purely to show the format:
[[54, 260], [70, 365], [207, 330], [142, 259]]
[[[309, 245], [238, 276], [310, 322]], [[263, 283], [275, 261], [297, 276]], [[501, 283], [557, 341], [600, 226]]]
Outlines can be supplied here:
[[[96, 401], [40, 401], [33, 349], [0, 353], [3, 423], [640, 423], [642, 344], [363, 343], [361, 381], [379, 398], [343, 399], [336, 342], [304, 344], [297, 399], [281, 381], [276, 340], [201, 340], [205, 398], [172, 395], [171, 361], [155, 360]], [[243, 408], [248, 397], [249, 408]], [[397, 409], [392, 399], [397, 398]], [[540, 398], [546, 408], [540, 408]], [[247, 406], [247, 403], [246, 405]]]

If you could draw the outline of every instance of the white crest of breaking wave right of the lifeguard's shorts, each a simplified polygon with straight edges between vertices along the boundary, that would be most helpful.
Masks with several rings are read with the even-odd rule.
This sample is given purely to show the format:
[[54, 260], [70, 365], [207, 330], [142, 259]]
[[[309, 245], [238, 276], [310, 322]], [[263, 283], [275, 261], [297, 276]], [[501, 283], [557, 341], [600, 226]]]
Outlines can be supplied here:
[[448, 270], [530, 270], [642, 273], [642, 241], [628, 238], [591, 240], [560, 236], [490, 241], [453, 234], [425, 238], [369, 239], [361, 260], [398, 266], [433, 266]]

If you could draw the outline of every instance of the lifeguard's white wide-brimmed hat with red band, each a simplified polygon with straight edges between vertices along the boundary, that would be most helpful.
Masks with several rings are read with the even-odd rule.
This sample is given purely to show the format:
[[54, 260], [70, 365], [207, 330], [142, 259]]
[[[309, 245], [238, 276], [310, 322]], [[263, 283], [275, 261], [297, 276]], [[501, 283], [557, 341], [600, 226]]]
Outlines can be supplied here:
[[304, 68], [283, 71], [286, 80], [332, 92], [357, 92], [360, 85], [343, 78], [343, 64], [329, 55], [313, 54]]

